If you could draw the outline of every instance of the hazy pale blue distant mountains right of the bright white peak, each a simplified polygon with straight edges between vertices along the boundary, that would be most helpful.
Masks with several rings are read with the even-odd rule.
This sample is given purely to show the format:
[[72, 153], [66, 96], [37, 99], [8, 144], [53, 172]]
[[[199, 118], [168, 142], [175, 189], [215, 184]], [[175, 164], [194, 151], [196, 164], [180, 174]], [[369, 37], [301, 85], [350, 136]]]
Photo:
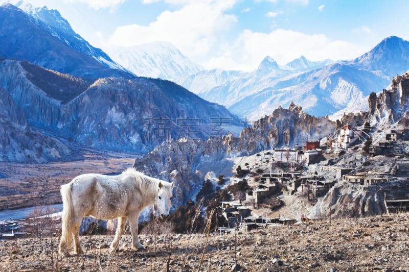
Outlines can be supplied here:
[[382, 90], [393, 76], [409, 68], [407, 56], [409, 42], [389, 37], [352, 61], [311, 62], [301, 57], [280, 66], [266, 57], [257, 70], [220, 81], [218, 85], [213, 80], [216, 76], [212, 78], [204, 72], [177, 83], [249, 120], [269, 115], [291, 101], [303, 105], [309, 114], [343, 114], [367, 110], [368, 95]]

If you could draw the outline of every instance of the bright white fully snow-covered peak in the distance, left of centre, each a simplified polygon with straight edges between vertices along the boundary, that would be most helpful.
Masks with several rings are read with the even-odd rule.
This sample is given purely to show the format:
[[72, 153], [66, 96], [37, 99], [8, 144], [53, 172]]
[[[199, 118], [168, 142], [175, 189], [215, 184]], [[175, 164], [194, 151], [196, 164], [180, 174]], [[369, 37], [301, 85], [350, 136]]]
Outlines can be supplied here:
[[116, 47], [108, 53], [113, 60], [140, 77], [173, 80], [203, 70], [169, 42]]

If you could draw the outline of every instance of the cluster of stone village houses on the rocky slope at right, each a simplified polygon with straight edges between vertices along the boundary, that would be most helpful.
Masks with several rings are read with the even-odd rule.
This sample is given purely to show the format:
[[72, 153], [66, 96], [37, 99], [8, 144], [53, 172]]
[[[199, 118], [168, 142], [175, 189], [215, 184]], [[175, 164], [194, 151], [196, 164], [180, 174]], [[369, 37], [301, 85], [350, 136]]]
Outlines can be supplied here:
[[[234, 232], [237, 228], [240, 231], [251, 231], [258, 228], [299, 224], [314, 219], [326, 219], [318, 214], [314, 217], [307, 217], [301, 213], [296, 216], [298, 218], [293, 218], [280, 215], [279, 212], [266, 211], [280, 210], [280, 207], [285, 205], [283, 200], [286, 196], [301, 197], [306, 203], [314, 205], [335, 184], [376, 186], [397, 180], [408, 180], [409, 159], [402, 154], [397, 144], [402, 135], [405, 135], [404, 142], [408, 142], [407, 133], [408, 130], [392, 130], [386, 133], [384, 139], [377, 144], [367, 146], [368, 156], [393, 157], [394, 167], [390, 172], [362, 171], [351, 164], [343, 166], [331, 163], [331, 160], [346, 153], [355, 154], [356, 159], [361, 158], [361, 154], [365, 152], [363, 149], [365, 149], [365, 142], [369, 135], [363, 130], [353, 129], [348, 125], [339, 129], [334, 140], [307, 141], [302, 149], [301, 147], [280, 148], [257, 154], [260, 159], [256, 159], [253, 166], [248, 163], [244, 166], [247, 169], [252, 168], [259, 174], [247, 177], [247, 180], [252, 181], [253, 189], [246, 191], [243, 201], [234, 200], [222, 203], [223, 215], [229, 221], [229, 228], [220, 227], [218, 230]], [[363, 162], [363, 164], [368, 164], [368, 162]], [[384, 192], [383, 204], [386, 214], [408, 211], [409, 190], [396, 189]], [[268, 216], [271, 213], [276, 216]]]

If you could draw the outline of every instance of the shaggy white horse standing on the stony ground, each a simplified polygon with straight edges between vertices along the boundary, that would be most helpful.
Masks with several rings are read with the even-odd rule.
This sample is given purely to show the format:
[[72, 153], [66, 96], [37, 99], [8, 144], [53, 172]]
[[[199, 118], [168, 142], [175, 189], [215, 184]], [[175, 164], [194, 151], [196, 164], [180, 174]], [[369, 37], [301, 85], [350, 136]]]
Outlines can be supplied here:
[[59, 253], [68, 255], [72, 238], [76, 254], [81, 254], [79, 226], [84, 216], [98, 219], [118, 218], [118, 227], [110, 250], [116, 250], [125, 232], [126, 219], [132, 232], [132, 249], [143, 249], [138, 240], [138, 217], [146, 206], [154, 205], [166, 218], [172, 202], [173, 182], [150, 178], [134, 168], [118, 176], [84, 174], [61, 186], [63, 203], [62, 234]]

